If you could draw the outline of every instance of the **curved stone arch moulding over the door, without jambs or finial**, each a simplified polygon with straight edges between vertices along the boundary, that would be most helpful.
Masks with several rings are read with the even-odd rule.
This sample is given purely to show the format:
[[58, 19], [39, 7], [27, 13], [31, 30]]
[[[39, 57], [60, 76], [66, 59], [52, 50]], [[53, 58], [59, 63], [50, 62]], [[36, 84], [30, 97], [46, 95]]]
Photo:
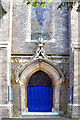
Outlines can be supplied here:
[[47, 73], [50, 76], [53, 85], [62, 84], [64, 82], [64, 75], [61, 70], [52, 62], [45, 59], [36, 59], [29, 63], [25, 63], [25, 65], [18, 70], [16, 82], [21, 85], [27, 85], [30, 76], [38, 70]]

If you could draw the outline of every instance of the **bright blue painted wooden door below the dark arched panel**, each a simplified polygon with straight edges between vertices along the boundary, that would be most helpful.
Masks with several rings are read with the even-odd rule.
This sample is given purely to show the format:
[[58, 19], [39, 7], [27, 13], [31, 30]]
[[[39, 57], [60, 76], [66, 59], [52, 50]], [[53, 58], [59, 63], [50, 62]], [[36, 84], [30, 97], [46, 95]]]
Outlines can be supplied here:
[[53, 87], [27, 87], [27, 106], [29, 112], [51, 112]]

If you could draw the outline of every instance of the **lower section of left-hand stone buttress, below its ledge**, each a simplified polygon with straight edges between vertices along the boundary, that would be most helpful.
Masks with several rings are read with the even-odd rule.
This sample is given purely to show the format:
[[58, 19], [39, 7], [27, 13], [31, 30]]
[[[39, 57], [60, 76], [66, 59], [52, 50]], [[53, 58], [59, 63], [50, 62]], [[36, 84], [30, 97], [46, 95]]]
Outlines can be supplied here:
[[7, 48], [0, 47], [0, 118], [9, 117]]

